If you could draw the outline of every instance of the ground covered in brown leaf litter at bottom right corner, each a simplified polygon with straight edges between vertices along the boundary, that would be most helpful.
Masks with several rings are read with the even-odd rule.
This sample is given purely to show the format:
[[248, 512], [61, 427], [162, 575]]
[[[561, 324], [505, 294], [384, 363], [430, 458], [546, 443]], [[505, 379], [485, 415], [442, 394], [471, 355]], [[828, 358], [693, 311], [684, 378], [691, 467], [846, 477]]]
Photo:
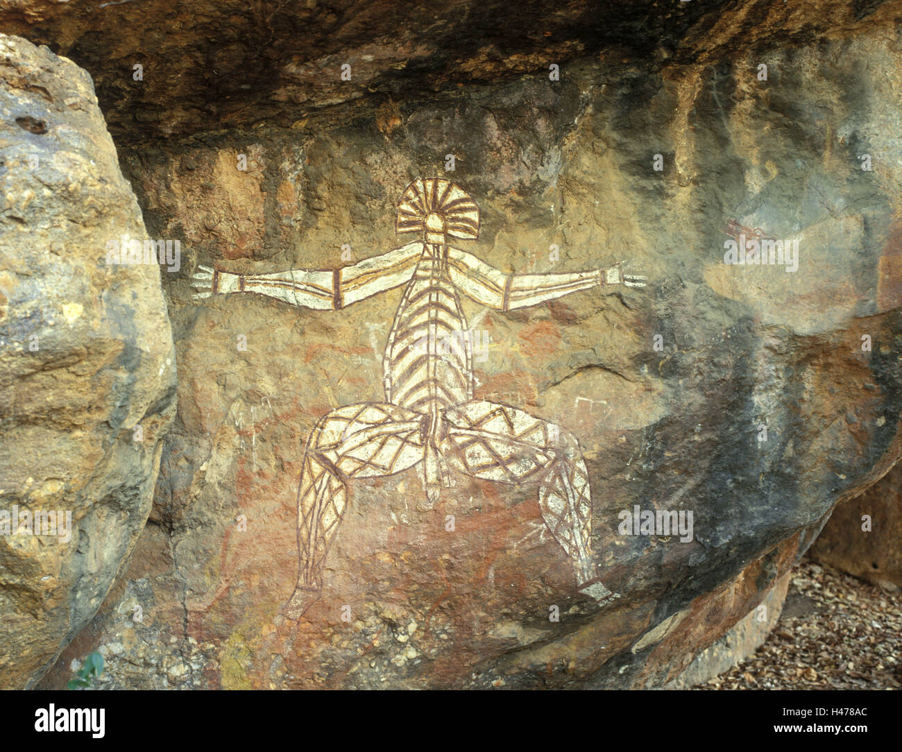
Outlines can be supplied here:
[[902, 592], [805, 558], [764, 645], [696, 689], [902, 689]]

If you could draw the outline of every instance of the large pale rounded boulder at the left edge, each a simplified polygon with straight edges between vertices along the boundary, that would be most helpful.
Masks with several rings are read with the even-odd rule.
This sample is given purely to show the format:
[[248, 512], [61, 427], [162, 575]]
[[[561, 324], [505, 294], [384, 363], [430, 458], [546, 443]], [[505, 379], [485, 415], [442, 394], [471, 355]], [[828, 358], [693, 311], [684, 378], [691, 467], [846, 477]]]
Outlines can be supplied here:
[[159, 269], [106, 262], [108, 240], [145, 231], [87, 73], [0, 35], [0, 144], [8, 689], [32, 685], [94, 616], [143, 529], [175, 357]]

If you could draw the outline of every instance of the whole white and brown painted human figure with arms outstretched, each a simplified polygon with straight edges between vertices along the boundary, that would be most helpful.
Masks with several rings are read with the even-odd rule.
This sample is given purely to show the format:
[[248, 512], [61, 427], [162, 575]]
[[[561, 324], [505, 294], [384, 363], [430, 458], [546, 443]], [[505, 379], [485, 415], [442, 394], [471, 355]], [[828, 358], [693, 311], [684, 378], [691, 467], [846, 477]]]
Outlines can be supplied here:
[[622, 263], [543, 274], [494, 269], [451, 245], [452, 238], [478, 237], [479, 207], [441, 178], [410, 183], [395, 230], [416, 239], [342, 269], [240, 275], [201, 266], [194, 275], [196, 298], [253, 292], [327, 310], [407, 286], [385, 346], [384, 401], [336, 408], [308, 438], [298, 491], [299, 577], [286, 615], [297, 619], [318, 600], [349, 481], [414, 467], [423, 476], [426, 509], [451, 484], [449, 468], [488, 481], [536, 483], [542, 518], [574, 566], [577, 590], [611, 600], [590, 547], [592, 499], [576, 438], [524, 410], [474, 397], [473, 346], [460, 294], [509, 311], [594, 287], [644, 287], [645, 278], [624, 275]]

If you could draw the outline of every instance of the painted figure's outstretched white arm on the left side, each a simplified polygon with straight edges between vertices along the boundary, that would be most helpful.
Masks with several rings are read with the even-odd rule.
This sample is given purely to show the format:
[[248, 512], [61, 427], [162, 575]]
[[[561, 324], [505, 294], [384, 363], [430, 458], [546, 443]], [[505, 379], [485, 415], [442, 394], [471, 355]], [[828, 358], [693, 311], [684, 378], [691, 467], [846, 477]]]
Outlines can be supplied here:
[[198, 267], [195, 298], [216, 293], [255, 292], [293, 306], [332, 310], [404, 284], [417, 268], [422, 243], [409, 243], [342, 269], [290, 269], [270, 274], [233, 274]]

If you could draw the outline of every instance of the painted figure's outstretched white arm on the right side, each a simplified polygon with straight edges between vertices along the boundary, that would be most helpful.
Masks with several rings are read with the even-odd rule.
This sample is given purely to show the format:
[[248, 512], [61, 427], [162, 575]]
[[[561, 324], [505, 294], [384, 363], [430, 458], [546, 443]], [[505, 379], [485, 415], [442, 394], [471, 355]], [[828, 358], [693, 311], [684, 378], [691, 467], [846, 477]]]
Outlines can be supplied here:
[[581, 289], [620, 284], [645, 287], [645, 277], [624, 274], [622, 263], [592, 271], [505, 274], [472, 253], [456, 248], [448, 251], [448, 270], [458, 289], [468, 297], [502, 311], [535, 306]]

